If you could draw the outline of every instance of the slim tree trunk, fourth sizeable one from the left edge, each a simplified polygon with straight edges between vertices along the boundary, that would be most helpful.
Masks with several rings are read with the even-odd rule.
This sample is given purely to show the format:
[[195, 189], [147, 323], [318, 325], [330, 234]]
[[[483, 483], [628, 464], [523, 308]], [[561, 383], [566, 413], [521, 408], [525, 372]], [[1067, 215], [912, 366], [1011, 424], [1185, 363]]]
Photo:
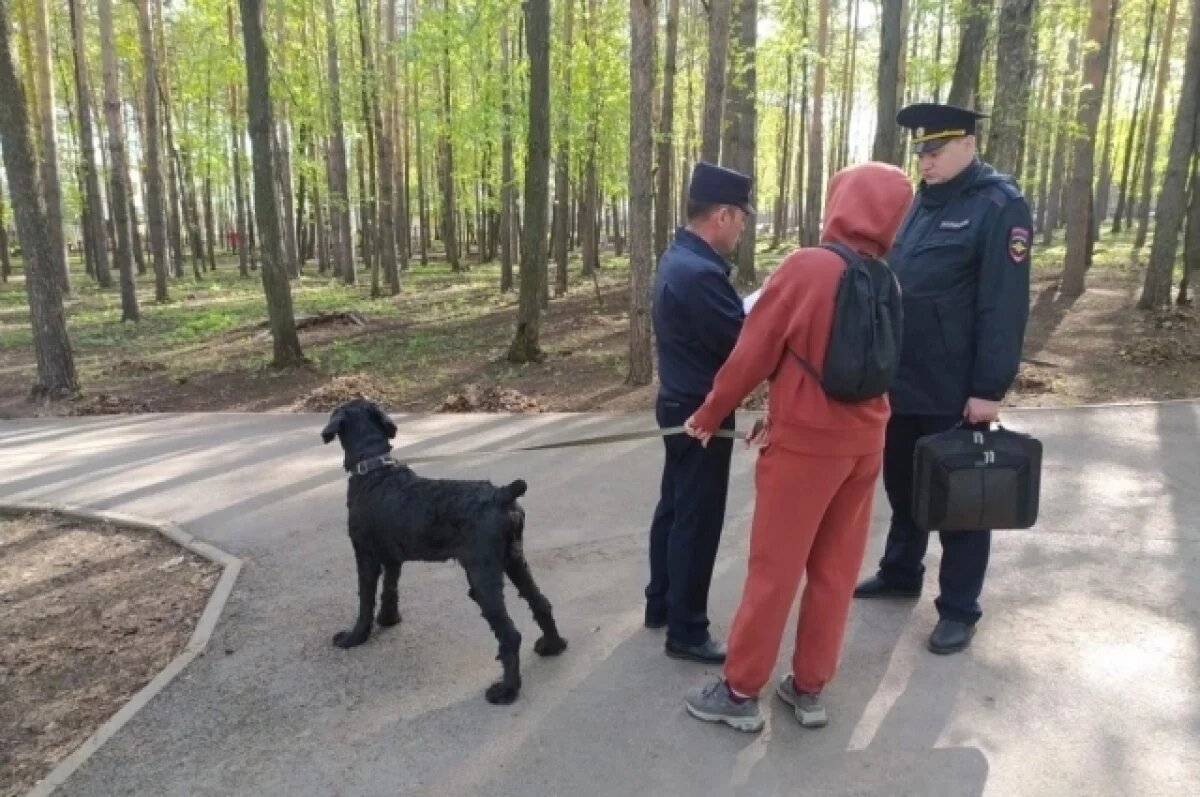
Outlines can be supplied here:
[[116, 269], [121, 282], [121, 320], [138, 320], [138, 294], [133, 284], [133, 222], [130, 218], [130, 174], [125, 160], [125, 121], [118, 84], [116, 50], [113, 44], [113, 0], [100, 0], [100, 49], [104, 62], [104, 118], [108, 127], [109, 184]]

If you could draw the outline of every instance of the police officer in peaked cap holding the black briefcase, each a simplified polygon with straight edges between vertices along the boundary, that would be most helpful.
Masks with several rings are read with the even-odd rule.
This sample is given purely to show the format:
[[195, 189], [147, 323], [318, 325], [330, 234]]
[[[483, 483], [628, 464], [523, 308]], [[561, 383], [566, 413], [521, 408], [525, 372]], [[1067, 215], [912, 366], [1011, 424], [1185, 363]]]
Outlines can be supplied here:
[[[922, 182], [888, 263], [904, 294], [904, 343], [892, 386], [883, 484], [892, 526], [878, 573], [856, 598], [916, 598], [929, 534], [912, 520], [919, 437], [959, 423], [988, 425], [1016, 377], [1028, 318], [1031, 218], [1013, 178], [976, 156], [983, 114], [919, 103], [896, 121], [912, 130]], [[966, 648], [982, 612], [990, 531], [941, 532], [934, 653]]]

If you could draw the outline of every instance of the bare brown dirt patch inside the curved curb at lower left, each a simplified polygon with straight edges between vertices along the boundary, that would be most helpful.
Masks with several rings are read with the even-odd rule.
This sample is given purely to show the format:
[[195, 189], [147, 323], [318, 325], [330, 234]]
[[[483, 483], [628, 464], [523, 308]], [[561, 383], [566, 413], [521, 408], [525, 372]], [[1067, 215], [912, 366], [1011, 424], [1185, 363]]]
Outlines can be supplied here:
[[179, 654], [218, 575], [152, 532], [0, 516], [0, 797], [24, 793]]

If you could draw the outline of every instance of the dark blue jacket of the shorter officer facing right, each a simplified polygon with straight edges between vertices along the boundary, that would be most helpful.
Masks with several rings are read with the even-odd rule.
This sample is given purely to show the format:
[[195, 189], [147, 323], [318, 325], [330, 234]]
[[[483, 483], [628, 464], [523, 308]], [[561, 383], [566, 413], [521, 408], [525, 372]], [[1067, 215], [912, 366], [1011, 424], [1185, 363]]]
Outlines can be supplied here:
[[680, 228], [659, 259], [650, 312], [659, 395], [698, 403], [733, 350], [745, 317], [728, 263], [698, 235]]

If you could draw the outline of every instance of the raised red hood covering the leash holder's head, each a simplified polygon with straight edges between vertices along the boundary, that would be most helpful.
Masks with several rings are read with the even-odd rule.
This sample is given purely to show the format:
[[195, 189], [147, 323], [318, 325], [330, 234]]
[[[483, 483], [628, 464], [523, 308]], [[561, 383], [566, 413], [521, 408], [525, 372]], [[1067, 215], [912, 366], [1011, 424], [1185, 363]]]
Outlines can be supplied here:
[[860, 163], [829, 180], [821, 241], [882, 257], [912, 203], [908, 175], [890, 163]]

